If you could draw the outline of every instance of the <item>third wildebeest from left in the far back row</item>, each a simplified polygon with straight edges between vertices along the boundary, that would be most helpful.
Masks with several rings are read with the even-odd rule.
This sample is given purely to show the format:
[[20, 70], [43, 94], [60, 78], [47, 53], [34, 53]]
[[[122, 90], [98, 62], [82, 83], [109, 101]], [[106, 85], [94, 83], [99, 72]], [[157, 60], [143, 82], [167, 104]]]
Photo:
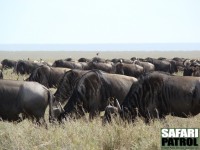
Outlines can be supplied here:
[[83, 65], [80, 62], [71, 62], [65, 60], [55, 60], [52, 67], [62, 67], [62, 68], [70, 68], [70, 69], [83, 69]]

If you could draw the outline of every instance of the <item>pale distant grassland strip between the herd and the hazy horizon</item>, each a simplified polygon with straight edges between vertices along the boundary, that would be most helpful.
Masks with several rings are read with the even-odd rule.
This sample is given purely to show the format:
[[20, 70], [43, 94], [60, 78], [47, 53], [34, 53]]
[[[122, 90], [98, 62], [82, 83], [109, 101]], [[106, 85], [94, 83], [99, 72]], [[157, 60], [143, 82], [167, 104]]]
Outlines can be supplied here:
[[0, 60], [7, 59], [44, 59], [55, 60], [64, 58], [73, 58], [78, 60], [81, 57], [93, 58], [99, 52], [99, 57], [105, 59], [131, 57], [183, 57], [183, 58], [200, 58], [200, 51], [0, 51]]

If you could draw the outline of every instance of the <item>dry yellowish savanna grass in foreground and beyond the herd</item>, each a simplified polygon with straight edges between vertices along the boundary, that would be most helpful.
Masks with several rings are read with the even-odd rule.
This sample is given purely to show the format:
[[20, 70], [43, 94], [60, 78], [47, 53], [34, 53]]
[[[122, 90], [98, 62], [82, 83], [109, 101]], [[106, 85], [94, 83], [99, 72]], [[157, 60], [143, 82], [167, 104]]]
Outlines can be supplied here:
[[[13, 52], [11, 52], [13, 53]], [[63, 52], [64, 53], [64, 52]], [[90, 52], [91, 56], [95, 56], [95, 52]], [[103, 52], [102, 52], [103, 53]], [[0, 54], [2, 54], [0, 52]], [[17, 55], [18, 54], [18, 55]], [[28, 54], [28, 53], [27, 53]], [[3, 58], [19, 59], [19, 58], [44, 58], [44, 60], [53, 60], [52, 57], [48, 57], [49, 53], [41, 55], [40, 52], [36, 54], [25, 55], [24, 53], [15, 52], [15, 55], [7, 53]], [[123, 57], [123, 53], [112, 54], [109, 57]], [[150, 53], [149, 53], [150, 54]], [[147, 54], [147, 55], [149, 55]], [[200, 52], [193, 53], [193, 57], [185, 58], [199, 58]], [[22, 57], [22, 55], [24, 57]], [[54, 59], [67, 58], [68, 55], [60, 54], [62, 57], [55, 55]], [[77, 53], [78, 55], [78, 53]], [[89, 55], [89, 54], [87, 54]], [[103, 54], [102, 54], [103, 55]], [[104, 54], [105, 55], [105, 54]], [[183, 52], [173, 55], [171, 53], [156, 56], [155, 57], [184, 57]], [[185, 55], [185, 54], [184, 54]], [[33, 56], [33, 57], [31, 57]], [[35, 57], [37, 56], [37, 57]], [[113, 56], [113, 57], [112, 57]], [[138, 56], [132, 53], [130, 56]], [[150, 55], [151, 56], [151, 55]], [[48, 57], [48, 58], [46, 58]], [[87, 57], [78, 55], [75, 59], [80, 57]], [[141, 57], [141, 56], [138, 56]], [[146, 56], [146, 54], [144, 55]], [[152, 57], [152, 56], [151, 56]], [[108, 55], [107, 57], [108, 58]], [[2, 55], [1, 55], [2, 60]], [[5, 79], [23, 80], [23, 76], [19, 78], [12, 74], [12, 70], [6, 70], [3, 72]], [[181, 72], [178, 73], [181, 75]], [[51, 89], [55, 91], [55, 89]], [[177, 118], [167, 116], [166, 121], [155, 120], [150, 125], [145, 125], [142, 119], [138, 118], [133, 124], [127, 123], [112, 123], [103, 126], [100, 118], [96, 118], [93, 121], [85, 119], [71, 120], [64, 124], [52, 125], [48, 123], [48, 108], [46, 110], [46, 121], [48, 129], [44, 127], [38, 127], [29, 120], [24, 120], [18, 124], [2, 122], [0, 121], [0, 149], [20, 149], [20, 150], [37, 150], [37, 149], [133, 149], [133, 150], [157, 150], [160, 149], [160, 130], [161, 128], [199, 128], [200, 127], [200, 114], [190, 118]]]

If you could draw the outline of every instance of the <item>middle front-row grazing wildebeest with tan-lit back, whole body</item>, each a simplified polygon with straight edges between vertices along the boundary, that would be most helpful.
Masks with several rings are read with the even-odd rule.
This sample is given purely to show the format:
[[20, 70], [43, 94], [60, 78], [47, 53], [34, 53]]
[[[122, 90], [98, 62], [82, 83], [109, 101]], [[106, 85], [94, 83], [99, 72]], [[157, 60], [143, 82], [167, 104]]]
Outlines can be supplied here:
[[84, 116], [85, 112], [89, 112], [89, 118], [92, 119], [105, 110], [109, 97], [115, 97], [122, 103], [132, 83], [136, 81], [134, 77], [103, 73], [99, 70], [88, 71], [76, 82], [64, 112], [58, 113], [61, 108], [53, 105], [54, 102], [50, 103], [53, 114], [51, 120], [61, 121], [69, 116], [79, 118]]

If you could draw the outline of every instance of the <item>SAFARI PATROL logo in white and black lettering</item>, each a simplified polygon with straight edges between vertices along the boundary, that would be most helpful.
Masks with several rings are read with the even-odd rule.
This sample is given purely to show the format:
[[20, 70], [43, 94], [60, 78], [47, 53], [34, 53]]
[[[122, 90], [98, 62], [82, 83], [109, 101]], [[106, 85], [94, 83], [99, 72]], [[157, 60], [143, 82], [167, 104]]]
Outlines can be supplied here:
[[161, 129], [162, 149], [200, 149], [199, 129]]

